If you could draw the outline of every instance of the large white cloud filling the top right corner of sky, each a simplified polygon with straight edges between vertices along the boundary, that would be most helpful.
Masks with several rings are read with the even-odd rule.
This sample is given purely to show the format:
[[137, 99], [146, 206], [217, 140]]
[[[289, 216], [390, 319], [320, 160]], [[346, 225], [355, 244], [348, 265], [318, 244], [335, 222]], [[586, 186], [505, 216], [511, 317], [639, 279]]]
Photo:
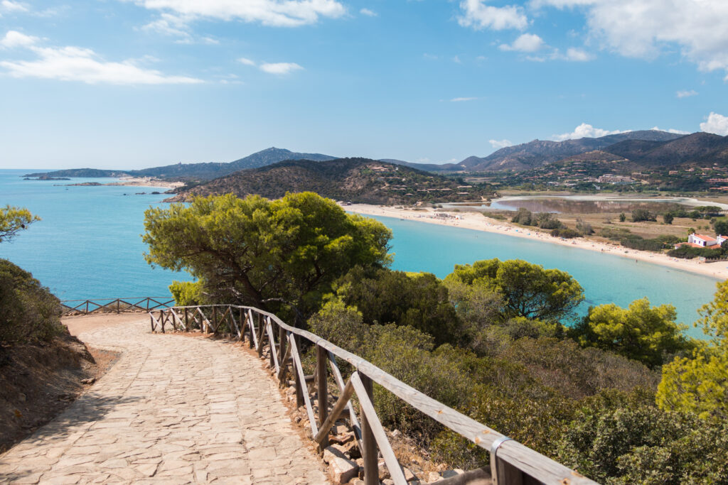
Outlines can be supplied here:
[[590, 36], [627, 57], [677, 47], [701, 71], [728, 71], [725, 0], [534, 0], [531, 6], [583, 9]]

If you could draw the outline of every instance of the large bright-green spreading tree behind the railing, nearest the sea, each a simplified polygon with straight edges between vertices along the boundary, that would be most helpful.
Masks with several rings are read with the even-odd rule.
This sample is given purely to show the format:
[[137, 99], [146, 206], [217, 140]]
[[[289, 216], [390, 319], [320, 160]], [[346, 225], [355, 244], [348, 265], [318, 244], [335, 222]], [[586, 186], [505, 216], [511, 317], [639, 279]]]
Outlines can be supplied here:
[[389, 264], [392, 237], [376, 220], [349, 215], [312, 192], [277, 201], [200, 197], [189, 206], [148, 209], [144, 228], [147, 262], [188, 271], [206, 300], [288, 310], [298, 321], [349, 268]]

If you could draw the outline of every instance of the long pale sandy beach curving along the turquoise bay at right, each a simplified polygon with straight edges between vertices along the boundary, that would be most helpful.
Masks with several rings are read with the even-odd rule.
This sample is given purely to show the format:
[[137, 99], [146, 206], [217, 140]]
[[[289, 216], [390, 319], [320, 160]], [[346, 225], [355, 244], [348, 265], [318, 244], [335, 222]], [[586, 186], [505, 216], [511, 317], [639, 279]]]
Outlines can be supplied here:
[[[449, 225], [456, 228], [474, 229], [475, 231], [486, 231], [489, 233], [504, 234], [505, 236], [534, 239], [550, 244], [561, 244], [562, 246], [616, 254], [617, 256], [628, 257], [637, 261], [652, 262], [657, 265], [690, 271], [691, 273], [711, 276], [720, 280], [728, 279], [728, 261], [705, 263], [697, 259], [681, 260], [668, 257], [667, 254], [628, 249], [616, 243], [601, 243], [584, 238], [560, 239], [551, 236], [549, 233], [538, 231], [537, 228], [521, 228], [502, 220], [485, 217], [479, 212], [443, 212], [442, 210], [435, 212], [433, 209], [398, 209], [397, 207], [373, 206], [368, 204], [352, 204], [344, 206], [344, 210], [363, 215], [396, 217], [397, 219], [414, 220], [422, 223]], [[450, 217], [437, 216], [436, 214], [448, 215]]]

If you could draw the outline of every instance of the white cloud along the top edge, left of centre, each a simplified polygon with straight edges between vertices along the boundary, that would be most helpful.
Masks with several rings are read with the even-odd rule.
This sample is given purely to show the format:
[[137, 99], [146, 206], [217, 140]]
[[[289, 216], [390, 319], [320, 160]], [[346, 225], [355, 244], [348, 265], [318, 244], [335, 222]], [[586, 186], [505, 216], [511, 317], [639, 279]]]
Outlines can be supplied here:
[[336, 18], [346, 13], [336, 0], [127, 0], [147, 9], [178, 16], [189, 23], [208, 20], [241, 20], [273, 27], [298, 27], [316, 23], [319, 17]]

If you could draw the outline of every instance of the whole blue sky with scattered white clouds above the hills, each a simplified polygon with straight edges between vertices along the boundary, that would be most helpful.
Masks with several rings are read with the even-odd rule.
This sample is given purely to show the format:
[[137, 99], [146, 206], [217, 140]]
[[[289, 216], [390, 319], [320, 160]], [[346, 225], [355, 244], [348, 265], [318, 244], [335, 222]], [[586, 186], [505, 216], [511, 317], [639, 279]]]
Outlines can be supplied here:
[[728, 135], [726, 0], [0, 0], [0, 167]]

